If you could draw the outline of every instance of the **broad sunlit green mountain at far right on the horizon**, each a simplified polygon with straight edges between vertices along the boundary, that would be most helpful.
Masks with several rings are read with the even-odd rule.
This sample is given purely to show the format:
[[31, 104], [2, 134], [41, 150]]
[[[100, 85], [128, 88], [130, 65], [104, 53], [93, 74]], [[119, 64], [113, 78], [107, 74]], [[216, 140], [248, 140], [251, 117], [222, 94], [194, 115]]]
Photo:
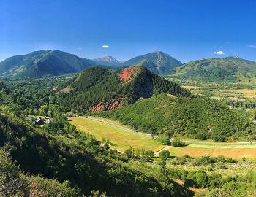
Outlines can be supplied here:
[[256, 63], [238, 57], [203, 59], [179, 66], [174, 76], [207, 82], [256, 82]]

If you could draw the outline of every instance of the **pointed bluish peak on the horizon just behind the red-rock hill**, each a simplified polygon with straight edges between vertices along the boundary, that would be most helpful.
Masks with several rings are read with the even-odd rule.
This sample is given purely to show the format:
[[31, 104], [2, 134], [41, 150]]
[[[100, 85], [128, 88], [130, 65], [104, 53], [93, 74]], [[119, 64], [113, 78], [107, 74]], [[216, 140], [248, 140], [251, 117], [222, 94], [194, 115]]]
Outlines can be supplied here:
[[156, 74], [170, 74], [180, 65], [180, 61], [161, 51], [140, 55], [121, 63], [121, 66], [145, 66]]

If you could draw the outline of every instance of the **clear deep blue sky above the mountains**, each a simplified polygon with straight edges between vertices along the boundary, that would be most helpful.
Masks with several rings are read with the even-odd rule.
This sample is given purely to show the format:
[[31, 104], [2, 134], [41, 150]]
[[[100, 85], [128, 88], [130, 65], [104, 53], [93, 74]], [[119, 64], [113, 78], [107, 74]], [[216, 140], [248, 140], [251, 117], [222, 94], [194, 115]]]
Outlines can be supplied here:
[[119, 60], [162, 50], [182, 62], [256, 61], [255, 8], [255, 0], [1, 0], [0, 61], [42, 49]]

